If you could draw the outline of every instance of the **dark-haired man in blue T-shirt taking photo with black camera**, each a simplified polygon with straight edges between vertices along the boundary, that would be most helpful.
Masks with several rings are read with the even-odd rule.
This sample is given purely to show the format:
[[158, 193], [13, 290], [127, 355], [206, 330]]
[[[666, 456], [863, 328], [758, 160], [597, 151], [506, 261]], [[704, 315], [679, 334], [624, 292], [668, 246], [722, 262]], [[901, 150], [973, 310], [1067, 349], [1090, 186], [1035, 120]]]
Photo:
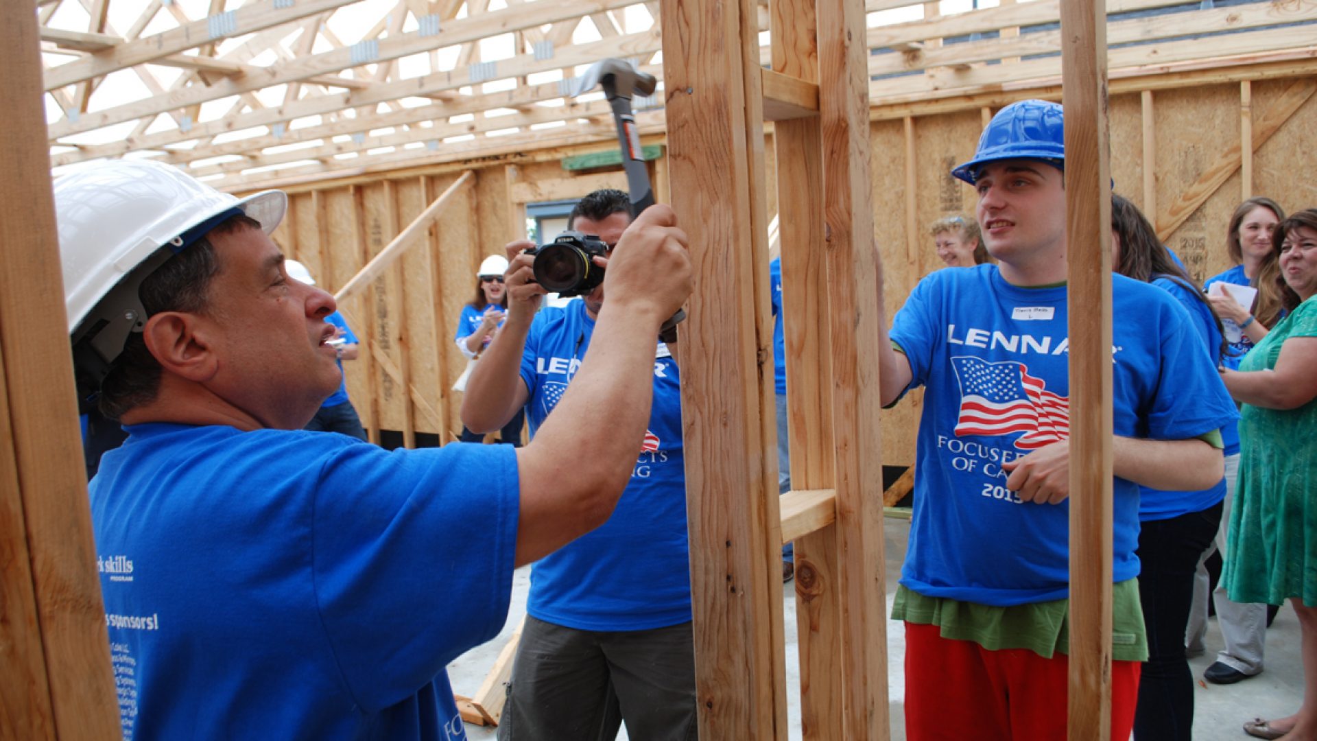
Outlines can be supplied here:
[[[630, 223], [619, 190], [598, 190], [573, 208], [568, 228], [579, 232], [577, 273], [590, 272], [587, 286], [607, 265], [595, 252], [611, 249]], [[507, 316], [466, 385], [470, 430], [497, 430], [524, 407], [533, 436], [590, 345], [603, 286], [539, 309], [547, 289], [536, 269], [543, 278], [552, 268], [554, 245], [537, 251], [539, 265], [536, 251], [527, 252], [533, 247], [507, 245]], [[695, 737], [681, 393], [673, 334], [665, 336], [672, 343], [655, 343], [644, 443], [612, 517], [533, 566], [502, 740], [612, 738], [623, 721], [635, 741]]]

